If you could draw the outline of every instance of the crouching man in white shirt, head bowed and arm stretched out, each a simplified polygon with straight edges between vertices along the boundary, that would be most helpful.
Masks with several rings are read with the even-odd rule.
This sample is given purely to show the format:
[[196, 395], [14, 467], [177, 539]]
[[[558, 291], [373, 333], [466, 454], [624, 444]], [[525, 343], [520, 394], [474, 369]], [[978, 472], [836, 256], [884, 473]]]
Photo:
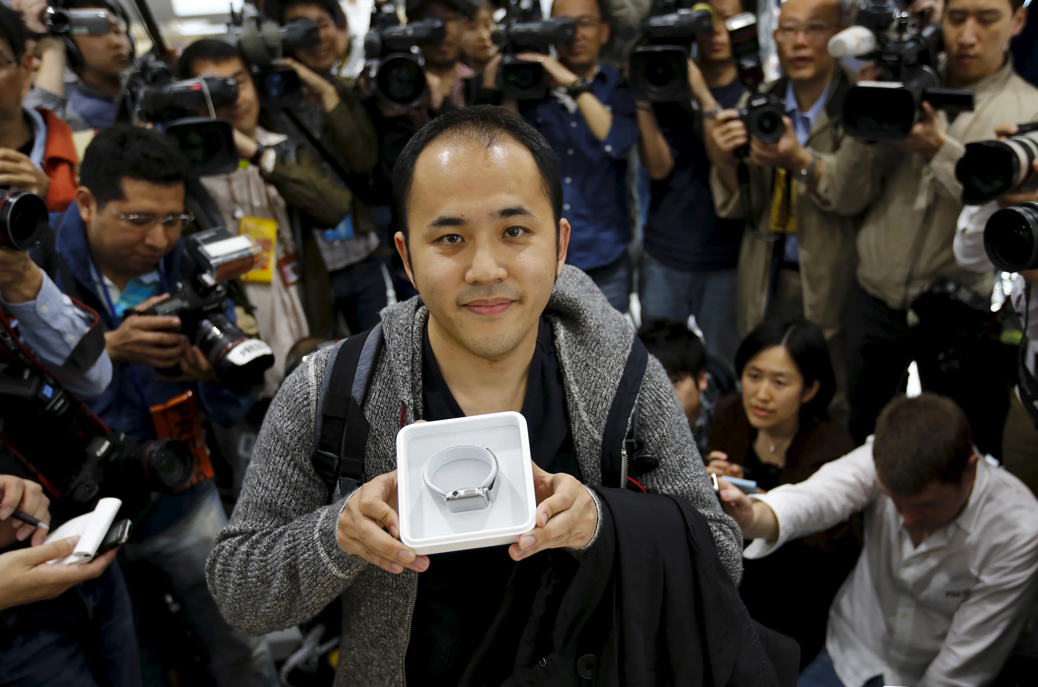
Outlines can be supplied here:
[[865, 512], [862, 556], [799, 687], [990, 684], [1031, 608], [1038, 501], [978, 458], [949, 399], [895, 400], [874, 437], [811, 478], [749, 498], [722, 483], [721, 498], [756, 540], [747, 558]]

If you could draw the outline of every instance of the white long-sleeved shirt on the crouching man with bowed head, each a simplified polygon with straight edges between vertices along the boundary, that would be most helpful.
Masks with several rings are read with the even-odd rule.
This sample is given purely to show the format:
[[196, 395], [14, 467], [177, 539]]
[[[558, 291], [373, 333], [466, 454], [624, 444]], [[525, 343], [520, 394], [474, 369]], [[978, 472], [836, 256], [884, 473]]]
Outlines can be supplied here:
[[825, 647], [847, 687], [978, 687], [998, 675], [1038, 587], [1038, 501], [980, 461], [962, 513], [919, 547], [876, 480], [872, 438], [811, 478], [753, 498], [778, 519], [778, 540], [746, 558], [865, 513], [865, 547], [829, 609]]

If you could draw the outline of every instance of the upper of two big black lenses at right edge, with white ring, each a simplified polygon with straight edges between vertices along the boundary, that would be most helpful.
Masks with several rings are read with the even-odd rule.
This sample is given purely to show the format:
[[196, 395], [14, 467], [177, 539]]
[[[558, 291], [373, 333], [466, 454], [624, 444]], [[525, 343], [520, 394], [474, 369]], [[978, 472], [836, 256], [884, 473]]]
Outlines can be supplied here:
[[1023, 186], [1038, 158], [1038, 123], [1020, 125], [1016, 136], [1004, 141], [966, 143], [955, 165], [955, 177], [962, 185], [962, 202], [980, 205], [1003, 193]]

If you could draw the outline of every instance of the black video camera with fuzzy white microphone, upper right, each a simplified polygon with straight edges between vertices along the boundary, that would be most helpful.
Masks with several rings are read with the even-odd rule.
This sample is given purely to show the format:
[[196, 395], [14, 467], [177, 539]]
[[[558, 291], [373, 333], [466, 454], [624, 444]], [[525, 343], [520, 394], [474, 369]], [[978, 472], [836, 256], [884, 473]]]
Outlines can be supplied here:
[[832, 36], [829, 54], [871, 60], [881, 73], [879, 81], [862, 81], [847, 91], [843, 122], [848, 136], [904, 140], [919, 119], [923, 101], [956, 112], [974, 109], [972, 90], [938, 85], [939, 27], [927, 23], [921, 28], [919, 21], [891, 0], [869, 0], [858, 9], [856, 21], [857, 25]]

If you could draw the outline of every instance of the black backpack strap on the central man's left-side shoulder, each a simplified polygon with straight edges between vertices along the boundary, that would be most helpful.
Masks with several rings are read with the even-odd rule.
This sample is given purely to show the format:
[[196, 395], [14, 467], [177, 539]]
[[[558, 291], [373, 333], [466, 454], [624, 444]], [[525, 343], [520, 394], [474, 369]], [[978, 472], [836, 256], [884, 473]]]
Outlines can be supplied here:
[[328, 488], [328, 502], [364, 482], [364, 450], [371, 425], [364, 417], [364, 396], [382, 345], [382, 323], [342, 341], [328, 359], [318, 421], [313, 470]]

